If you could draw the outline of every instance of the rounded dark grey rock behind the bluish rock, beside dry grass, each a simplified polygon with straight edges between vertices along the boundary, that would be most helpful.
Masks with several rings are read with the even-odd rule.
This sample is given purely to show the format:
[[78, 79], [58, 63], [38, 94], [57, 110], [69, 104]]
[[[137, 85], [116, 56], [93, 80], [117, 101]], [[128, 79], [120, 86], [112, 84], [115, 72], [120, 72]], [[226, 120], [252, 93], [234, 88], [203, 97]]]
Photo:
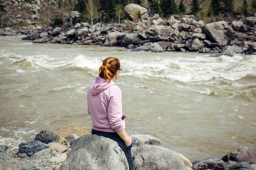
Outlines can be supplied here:
[[39, 140], [45, 144], [57, 142], [59, 144], [68, 146], [68, 142], [66, 139], [64, 139], [60, 135], [55, 134], [54, 132], [49, 132], [47, 130], [40, 131], [40, 133], [36, 135], [34, 140]]

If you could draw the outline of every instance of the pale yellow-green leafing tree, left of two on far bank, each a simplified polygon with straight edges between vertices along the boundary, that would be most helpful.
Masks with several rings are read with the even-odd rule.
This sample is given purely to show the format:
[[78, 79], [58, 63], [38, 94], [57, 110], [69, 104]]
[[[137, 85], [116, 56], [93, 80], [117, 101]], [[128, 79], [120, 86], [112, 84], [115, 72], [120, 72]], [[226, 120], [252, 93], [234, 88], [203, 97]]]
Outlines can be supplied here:
[[99, 19], [99, 12], [98, 12], [98, 4], [97, 2], [94, 3], [94, 0], [83, 0], [85, 2], [85, 14], [84, 17], [91, 21], [93, 25], [94, 20]]

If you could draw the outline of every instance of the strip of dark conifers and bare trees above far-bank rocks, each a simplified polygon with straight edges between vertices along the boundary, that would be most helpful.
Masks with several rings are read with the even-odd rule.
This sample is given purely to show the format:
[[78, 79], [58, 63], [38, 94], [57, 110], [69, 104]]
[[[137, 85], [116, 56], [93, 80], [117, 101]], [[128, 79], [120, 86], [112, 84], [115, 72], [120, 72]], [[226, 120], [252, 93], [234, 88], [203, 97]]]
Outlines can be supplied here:
[[[25, 0], [25, 2], [34, 1]], [[27, 10], [15, 8], [9, 5], [8, 0], [2, 0], [1, 28], [25, 26], [26, 22], [16, 22], [17, 13], [24, 20], [36, 20], [43, 28], [62, 26], [63, 30], [72, 28], [79, 22], [121, 23], [122, 20], [128, 19], [124, 7], [130, 3], [146, 8], [149, 17], [159, 14], [160, 17], [168, 19], [171, 15], [193, 14], [205, 22], [230, 21], [256, 12], [256, 0], [243, 0], [243, 2], [241, 0], [45, 0], [37, 10], [39, 17], [31, 18], [36, 10], [26, 13]], [[78, 11], [80, 16], [74, 15], [73, 11]]]

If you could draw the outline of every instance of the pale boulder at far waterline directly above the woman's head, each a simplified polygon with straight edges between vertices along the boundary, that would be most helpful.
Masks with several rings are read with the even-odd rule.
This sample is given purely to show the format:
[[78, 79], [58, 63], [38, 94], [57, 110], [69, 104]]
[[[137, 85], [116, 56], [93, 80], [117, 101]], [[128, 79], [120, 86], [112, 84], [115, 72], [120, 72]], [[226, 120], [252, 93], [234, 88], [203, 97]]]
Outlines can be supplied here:
[[125, 33], [112, 32], [106, 35], [104, 44], [101, 46], [121, 46], [123, 43], [121, 40], [124, 39]]

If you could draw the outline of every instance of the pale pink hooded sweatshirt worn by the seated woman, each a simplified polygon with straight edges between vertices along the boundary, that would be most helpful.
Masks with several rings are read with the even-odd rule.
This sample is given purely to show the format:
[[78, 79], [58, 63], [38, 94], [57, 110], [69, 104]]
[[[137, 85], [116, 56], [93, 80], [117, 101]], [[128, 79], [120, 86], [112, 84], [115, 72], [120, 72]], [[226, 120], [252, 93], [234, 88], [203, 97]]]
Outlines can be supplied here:
[[95, 78], [88, 89], [87, 105], [92, 129], [104, 132], [121, 132], [125, 129], [121, 89], [115, 82]]

